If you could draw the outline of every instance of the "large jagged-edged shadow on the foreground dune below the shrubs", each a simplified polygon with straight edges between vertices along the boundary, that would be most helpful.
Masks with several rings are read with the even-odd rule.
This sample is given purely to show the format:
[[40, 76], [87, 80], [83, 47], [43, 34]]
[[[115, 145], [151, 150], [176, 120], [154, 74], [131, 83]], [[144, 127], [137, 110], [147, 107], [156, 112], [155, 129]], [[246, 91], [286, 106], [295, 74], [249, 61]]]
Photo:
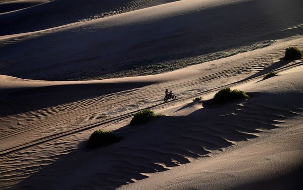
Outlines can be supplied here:
[[[191, 160], [211, 156], [237, 141], [258, 137], [302, 112], [300, 93], [251, 93], [224, 106], [206, 106], [188, 116], [164, 116], [146, 125], [114, 131], [122, 137], [109, 147], [75, 151], [57, 158], [14, 189], [115, 189]], [[288, 100], [285, 101], [279, 100]], [[277, 103], [279, 102], [279, 103]], [[286, 109], [285, 109], [286, 108]]]

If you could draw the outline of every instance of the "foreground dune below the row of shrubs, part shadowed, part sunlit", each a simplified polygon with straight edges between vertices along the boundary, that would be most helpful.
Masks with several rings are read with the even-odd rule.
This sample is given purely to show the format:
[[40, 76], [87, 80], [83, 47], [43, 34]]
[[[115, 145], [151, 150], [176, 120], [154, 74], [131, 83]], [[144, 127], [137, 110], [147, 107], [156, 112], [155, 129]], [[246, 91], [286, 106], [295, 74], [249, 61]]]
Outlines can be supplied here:
[[[227, 184], [233, 188], [249, 187], [261, 179], [272, 181], [296, 172], [293, 167], [302, 167], [299, 158], [303, 154], [297, 141], [302, 131], [300, 97], [303, 91], [298, 90], [303, 85], [302, 69], [300, 66], [268, 80], [254, 80], [238, 86], [253, 92], [249, 100], [214, 108], [192, 109], [194, 104], [184, 109], [179, 106], [171, 116], [147, 125], [122, 127], [115, 131], [123, 137], [119, 143], [93, 151], [85, 151], [80, 146], [14, 188], [40, 189], [47, 183], [49, 188], [55, 189], [115, 189], [136, 182], [123, 188], [224, 189]], [[280, 88], [275, 87], [277, 83]], [[188, 109], [195, 111], [179, 116]], [[219, 154], [222, 151], [226, 153]], [[266, 158], [270, 161], [264, 161]], [[285, 164], [277, 168], [279, 162]], [[182, 164], [186, 164], [187, 169], [176, 173], [174, 167]], [[259, 170], [264, 172], [263, 167], [267, 171], [260, 178]], [[247, 174], [247, 168], [254, 173]], [[166, 171], [169, 169], [171, 171]], [[153, 174], [159, 171], [166, 172]], [[245, 177], [239, 179], [242, 173]], [[147, 177], [150, 178], [140, 181]], [[285, 180], [300, 178], [295, 177]], [[189, 180], [190, 183], [186, 182]], [[269, 188], [277, 187], [274, 183], [265, 184], [271, 184]], [[293, 187], [299, 185], [293, 184]]]

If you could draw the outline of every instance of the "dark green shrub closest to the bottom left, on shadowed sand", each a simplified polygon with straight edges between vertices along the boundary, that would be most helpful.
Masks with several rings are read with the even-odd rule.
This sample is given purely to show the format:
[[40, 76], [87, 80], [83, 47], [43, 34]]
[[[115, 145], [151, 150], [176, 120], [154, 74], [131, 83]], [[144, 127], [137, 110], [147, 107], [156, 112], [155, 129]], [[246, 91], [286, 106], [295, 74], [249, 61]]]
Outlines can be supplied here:
[[119, 138], [113, 132], [99, 129], [90, 135], [87, 148], [108, 146], [116, 143], [117, 141], [119, 141]]

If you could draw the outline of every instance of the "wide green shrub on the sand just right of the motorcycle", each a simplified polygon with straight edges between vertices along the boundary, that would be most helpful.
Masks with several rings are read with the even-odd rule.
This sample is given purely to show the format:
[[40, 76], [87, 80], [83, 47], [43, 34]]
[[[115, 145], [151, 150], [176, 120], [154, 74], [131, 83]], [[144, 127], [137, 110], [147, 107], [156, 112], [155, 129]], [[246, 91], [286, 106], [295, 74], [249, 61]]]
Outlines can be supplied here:
[[219, 92], [217, 92], [214, 96], [214, 99], [211, 103], [212, 104], [219, 104], [222, 105], [226, 102], [240, 100], [240, 99], [246, 99], [249, 98], [247, 94], [244, 91], [241, 90], [231, 90], [229, 87], [221, 89]]

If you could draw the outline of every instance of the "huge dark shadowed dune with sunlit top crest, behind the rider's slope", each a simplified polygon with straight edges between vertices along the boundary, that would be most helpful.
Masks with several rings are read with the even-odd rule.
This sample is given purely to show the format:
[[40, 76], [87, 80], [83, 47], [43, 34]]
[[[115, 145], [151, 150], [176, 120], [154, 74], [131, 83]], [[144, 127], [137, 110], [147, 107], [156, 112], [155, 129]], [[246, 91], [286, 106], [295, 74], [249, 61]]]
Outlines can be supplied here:
[[[217, 59], [247, 51], [245, 47], [255, 42], [259, 44], [254, 49], [271, 44], [262, 45], [264, 40], [300, 34], [300, 26], [289, 29], [291, 32], [286, 29], [302, 23], [301, 4], [297, 0], [183, 0], [60, 30], [3, 39], [0, 73], [52, 80], [98, 79], [133, 68], [133, 75], [138, 75], [138, 67], [143, 70], [141, 74], [146, 74], [144, 67], [157, 63], [160, 65], [151, 70], [160, 68], [163, 72], [180, 63], [186, 66], [206, 61], [186, 58], [212, 57], [210, 53], [223, 51], [213, 55]], [[236, 48], [239, 50], [224, 52]], [[36, 51], [39, 54], [32, 54]], [[131, 72], [120, 77], [126, 74]]]

